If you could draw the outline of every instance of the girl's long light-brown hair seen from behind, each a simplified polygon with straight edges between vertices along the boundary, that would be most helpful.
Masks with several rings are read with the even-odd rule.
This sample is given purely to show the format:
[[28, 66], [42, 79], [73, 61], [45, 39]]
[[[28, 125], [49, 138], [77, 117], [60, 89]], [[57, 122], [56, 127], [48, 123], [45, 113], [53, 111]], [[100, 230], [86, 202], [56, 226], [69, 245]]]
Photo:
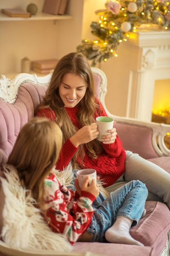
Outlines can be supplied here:
[[53, 121], [34, 117], [16, 139], [7, 164], [13, 165], [23, 187], [42, 203], [44, 180], [52, 171], [62, 147], [62, 131]]

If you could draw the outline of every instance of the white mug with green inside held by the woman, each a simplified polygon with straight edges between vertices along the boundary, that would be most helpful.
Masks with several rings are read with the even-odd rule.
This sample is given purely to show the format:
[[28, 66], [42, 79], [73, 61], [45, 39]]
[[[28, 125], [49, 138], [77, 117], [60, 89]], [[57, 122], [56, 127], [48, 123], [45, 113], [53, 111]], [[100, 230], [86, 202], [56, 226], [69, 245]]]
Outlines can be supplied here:
[[99, 132], [97, 139], [99, 141], [101, 141], [103, 135], [109, 134], [108, 130], [113, 128], [113, 123], [114, 123], [114, 120], [111, 117], [96, 118], [97, 130]]

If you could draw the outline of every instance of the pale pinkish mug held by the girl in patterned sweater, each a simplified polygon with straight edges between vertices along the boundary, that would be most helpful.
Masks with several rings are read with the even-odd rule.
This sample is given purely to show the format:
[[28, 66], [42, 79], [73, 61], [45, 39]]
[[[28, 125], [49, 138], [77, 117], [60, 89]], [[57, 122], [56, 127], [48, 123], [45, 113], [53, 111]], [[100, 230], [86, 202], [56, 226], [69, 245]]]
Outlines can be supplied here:
[[96, 182], [97, 174], [95, 169], [82, 169], [77, 171], [77, 180], [78, 180], [80, 189], [82, 188], [84, 180], [86, 179], [87, 176], [89, 177], [89, 182], [88, 182], [89, 185], [91, 184], [92, 180], [95, 180]]

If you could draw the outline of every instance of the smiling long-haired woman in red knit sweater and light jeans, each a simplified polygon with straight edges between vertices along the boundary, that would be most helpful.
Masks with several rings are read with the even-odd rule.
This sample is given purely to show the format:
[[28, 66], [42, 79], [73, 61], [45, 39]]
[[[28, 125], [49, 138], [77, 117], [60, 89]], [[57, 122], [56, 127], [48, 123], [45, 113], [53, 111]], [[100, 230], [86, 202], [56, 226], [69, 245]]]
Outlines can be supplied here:
[[150, 200], [163, 200], [170, 209], [169, 173], [125, 151], [115, 128], [102, 142], [96, 139], [95, 118], [106, 116], [106, 112], [95, 97], [93, 73], [82, 54], [70, 53], [60, 59], [36, 115], [53, 120], [63, 132], [56, 169], [63, 170], [70, 161], [74, 169], [96, 169], [109, 192], [119, 184], [140, 180], [152, 192]]

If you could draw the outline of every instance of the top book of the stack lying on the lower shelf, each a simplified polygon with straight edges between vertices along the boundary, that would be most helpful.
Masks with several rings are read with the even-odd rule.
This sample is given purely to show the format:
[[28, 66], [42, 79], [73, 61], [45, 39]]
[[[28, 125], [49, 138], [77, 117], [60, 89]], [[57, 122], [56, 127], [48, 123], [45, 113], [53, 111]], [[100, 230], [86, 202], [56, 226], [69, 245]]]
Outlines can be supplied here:
[[40, 61], [32, 61], [32, 68], [37, 68], [39, 70], [53, 70], [57, 64], [57, 59], [49, 59], [49, 60], [40, 60]]

